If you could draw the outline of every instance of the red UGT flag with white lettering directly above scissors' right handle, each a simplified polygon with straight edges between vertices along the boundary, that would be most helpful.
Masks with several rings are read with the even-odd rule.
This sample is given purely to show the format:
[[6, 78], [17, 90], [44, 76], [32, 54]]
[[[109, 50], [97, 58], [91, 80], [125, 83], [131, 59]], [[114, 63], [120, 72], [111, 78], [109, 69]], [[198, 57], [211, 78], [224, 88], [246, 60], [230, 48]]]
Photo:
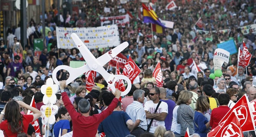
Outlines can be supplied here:
[[131, 80], [131, 83], [133, 83], [133, 80], [135, 80], [140, 72], [141, 70], [139, 69], [139, 67], [129, 56], [129, 59], [126, 62], [125, 67], [123, 68], [123, 75], [127, 76]]

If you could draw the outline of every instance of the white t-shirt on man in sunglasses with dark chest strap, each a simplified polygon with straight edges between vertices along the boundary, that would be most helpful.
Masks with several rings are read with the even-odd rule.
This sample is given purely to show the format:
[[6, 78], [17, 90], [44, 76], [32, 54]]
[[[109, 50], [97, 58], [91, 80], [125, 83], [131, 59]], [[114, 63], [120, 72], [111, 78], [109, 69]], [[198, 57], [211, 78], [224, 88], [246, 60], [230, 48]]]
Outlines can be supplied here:
[[[144, 104], [144, 110], [149, 111], [151, 114], [153, 114], [155, 112], [157, 105], [158, 103], [154, 104], [152, 100], [149, 100]], [[161, 102], [161, 104], [158, 107], [158, 111], [156, 113], [162, 113], [162, 112], [165, 112], [168, 114], [168, 105], [166, 102]], [[147, 119], [147, 121], [149, 124], [151, 119]], [[149, 129], [149, 132], [154, 133], [156, 130], [156, 127], [164, 126], [164, 124], [165, 124], [164, 121], [158, 121], [154, 119]]]

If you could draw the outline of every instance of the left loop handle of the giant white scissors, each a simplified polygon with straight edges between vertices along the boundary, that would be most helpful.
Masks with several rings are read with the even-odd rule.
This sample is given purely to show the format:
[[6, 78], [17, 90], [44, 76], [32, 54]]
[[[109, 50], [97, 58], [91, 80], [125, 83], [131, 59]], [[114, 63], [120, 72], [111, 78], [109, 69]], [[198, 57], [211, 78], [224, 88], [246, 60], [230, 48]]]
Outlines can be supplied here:
[[57, 72], [59, 70], [67, 70], [69, 72], [69, 78], [66, 80], [66, 84], [71, 83], [73, 80], [78, 78], [80, 75], [83, 73], [89, 71], [88, 65], [83, 65], [82, 67], [79, 68], [72, 68], [67, 65], [59, 65], [53, 70], [53, 81], [55, 84], [59, 85], [59, 81], [57, 80]]

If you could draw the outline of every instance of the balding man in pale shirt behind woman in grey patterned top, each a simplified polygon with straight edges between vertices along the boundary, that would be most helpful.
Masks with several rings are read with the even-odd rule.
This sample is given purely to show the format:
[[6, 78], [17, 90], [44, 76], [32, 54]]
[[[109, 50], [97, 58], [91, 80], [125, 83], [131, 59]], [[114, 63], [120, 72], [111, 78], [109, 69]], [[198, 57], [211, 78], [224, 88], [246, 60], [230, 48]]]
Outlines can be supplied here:
[[190, 104], [190, 107], [195, 110], [195, 104], [197, 103], [197, 98], [198, 98], [198, 84], [195, 81], [191, 81], [189, 83], [189, 91], [193, 93], [192, 101]]

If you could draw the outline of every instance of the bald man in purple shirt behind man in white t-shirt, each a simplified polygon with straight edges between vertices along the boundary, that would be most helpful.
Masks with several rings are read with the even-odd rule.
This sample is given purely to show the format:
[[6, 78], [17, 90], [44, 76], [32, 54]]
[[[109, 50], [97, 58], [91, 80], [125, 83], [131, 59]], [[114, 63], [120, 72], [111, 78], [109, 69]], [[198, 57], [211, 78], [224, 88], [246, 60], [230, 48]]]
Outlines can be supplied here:
[[160, 100], [162, 102], [166, 102], [168, 105], [168, 114], [164, 120], [164, 124], [165, 124], [164, 126], [165, 126], [166, 130], [168, 131], [168, 130], [171, 130], [172, 112], [173, 112], [173, 109], [176, 106], [176, 104], [173, 100], [166, 98], [166, 89], [165, 88], [161, 87], [161, 88], [159, 88], [159, 90], [160, 90], [160, 96], [159, 96]]

